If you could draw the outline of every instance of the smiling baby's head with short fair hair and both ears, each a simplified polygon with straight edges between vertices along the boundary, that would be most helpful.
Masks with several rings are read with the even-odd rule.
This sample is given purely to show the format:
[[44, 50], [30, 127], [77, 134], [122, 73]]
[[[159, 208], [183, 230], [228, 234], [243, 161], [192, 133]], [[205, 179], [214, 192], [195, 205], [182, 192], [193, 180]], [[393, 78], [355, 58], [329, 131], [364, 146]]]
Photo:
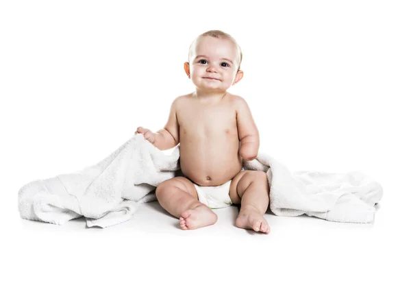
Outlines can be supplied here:
[[192, 42], [184, 69], [197, 88], [225, 92], [242, 79], [241, 61], [236, 40], [225, 32], [210, 30]]

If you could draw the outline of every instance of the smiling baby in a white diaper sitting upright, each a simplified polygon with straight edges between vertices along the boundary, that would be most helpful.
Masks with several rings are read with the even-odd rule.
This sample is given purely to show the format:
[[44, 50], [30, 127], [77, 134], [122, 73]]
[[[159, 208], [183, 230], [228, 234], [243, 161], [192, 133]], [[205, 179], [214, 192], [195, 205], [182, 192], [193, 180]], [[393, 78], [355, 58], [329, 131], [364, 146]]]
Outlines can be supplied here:
[[160, 150], [179, 144], [184, 177], [162, 182], [155, 195], [183, 230], [212, 225], [217, 221], [212, 209], [240, 204], [237, 227], [270, 232], [263, 217], [269, 206], [266, 173], [242, 169], [242, 160], [258, 154], [258, 129], [245, 99], [227, 93], [242, 79], [241, 60], [229, 34], [212, 30], [198, 36], [184, 63], [195, 91], [173, 101], [164, 129], [135, 132]]

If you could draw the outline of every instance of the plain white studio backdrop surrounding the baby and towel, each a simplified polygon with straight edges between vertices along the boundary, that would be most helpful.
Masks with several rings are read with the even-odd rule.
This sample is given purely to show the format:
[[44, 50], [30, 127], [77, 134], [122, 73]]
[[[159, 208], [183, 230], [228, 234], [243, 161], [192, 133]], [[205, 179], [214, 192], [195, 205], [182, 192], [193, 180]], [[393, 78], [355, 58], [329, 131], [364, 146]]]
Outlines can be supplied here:
[[[410, 13], [408, 1], [1, 1], [2, 281], [406, 282]], [[249, 103], [260, 151], [291, 171], [373, 177], [384, 187], [375, 223], [273, 217], [266, 238], [224, 238], [20, 219], [24, 184], [164, 126], [171, 101], [193, 90], [188, 47], [209, 29], [242, 48], [245, 75], [230, 91]]]

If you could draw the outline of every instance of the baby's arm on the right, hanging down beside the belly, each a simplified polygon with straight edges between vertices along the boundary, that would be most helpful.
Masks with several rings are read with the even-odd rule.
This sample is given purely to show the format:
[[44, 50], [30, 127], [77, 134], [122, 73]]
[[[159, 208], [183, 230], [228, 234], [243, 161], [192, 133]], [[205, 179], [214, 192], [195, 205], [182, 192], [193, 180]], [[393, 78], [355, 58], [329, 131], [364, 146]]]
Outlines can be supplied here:
[[260, 136], [256, 123], [245, 99], [237, 97], [236, 114], [238, 138], [240, 138], [240, 156], [244, 160], [253, 160], [258, 155]]

